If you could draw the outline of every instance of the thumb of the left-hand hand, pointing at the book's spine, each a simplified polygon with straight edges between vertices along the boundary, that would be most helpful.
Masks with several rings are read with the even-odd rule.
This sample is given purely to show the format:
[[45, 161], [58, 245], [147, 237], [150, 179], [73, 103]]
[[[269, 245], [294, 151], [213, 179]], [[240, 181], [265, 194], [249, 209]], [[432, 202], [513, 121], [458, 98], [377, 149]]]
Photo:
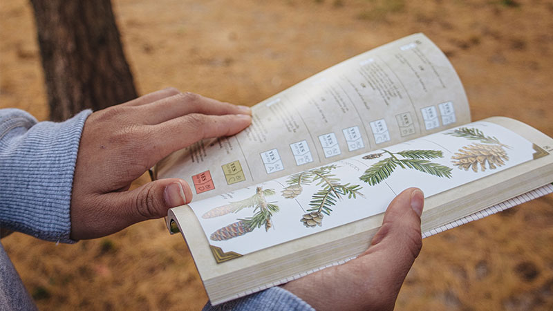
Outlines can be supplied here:
[[[192, 190], [185, 180], [178, 178], [160, 179], [148, 182], [131, 191], [102, 194], [98, 206], [91, 214], [102, 210], [102, 221], [82, 223], [72, 228], [74, 239], [97, 238], [113, 234], [143, 220], [167, 216], [167, 210], [185, 205], [192, 198]], [[94, 217], [90, 217], [92, 219]], [[96, 216], [97, 218], [97, 216]], [[86, 227], [88, 224], [95, 227]], [[100, 225], [97, 225], [100, 224]]]

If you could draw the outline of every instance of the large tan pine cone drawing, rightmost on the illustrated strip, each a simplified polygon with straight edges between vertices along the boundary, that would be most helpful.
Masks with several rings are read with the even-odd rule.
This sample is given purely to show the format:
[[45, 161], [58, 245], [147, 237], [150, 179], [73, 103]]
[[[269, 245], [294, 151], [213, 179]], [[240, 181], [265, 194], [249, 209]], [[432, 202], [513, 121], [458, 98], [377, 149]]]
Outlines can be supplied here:
[[486, 171], [486, 162], [489, 169], [496, 169], [497, 167], [505, 165], [505, 161], [509, 160], [507, 151], [498, 144], [469, 144], [468, 146], [459, 149], [459, 153], [455, 153], [452, 156], [453, 165], [459, 169], [469, 168], [476, 173], [478, 172], [478, 164], [480, 169]]

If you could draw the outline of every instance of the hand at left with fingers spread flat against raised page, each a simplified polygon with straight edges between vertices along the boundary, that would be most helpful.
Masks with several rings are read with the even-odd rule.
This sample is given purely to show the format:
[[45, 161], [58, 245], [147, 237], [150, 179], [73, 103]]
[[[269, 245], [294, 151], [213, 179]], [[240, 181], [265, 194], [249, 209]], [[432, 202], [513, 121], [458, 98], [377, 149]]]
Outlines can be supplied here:
[[251, 109], [175, 88], [92, 113], [84, 124], [71, 195], [71, 238], [97, 238], [190, 202], [185, 180], [168, 178], [129, 191], [169, 153], [203, 138], [233, 135]]

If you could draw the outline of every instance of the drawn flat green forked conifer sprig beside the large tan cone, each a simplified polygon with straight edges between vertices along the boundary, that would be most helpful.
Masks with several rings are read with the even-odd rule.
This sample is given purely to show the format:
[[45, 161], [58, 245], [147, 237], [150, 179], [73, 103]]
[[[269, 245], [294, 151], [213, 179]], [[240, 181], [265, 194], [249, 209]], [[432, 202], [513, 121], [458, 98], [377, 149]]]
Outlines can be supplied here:
[[390, 177], [397, 167], [401, 167], [402, 169], [415, 169], [437, 177], [451, 178], [451, 167], [429, 161], [431, 159], [444, 157], [442, 151], [438, 150], [404, 150], [394, 153], [382, 149], [381, 153], [372, 153], [363, 158], [366, 160], [373, 160], [386, 154], [389, 156], [388, 158], [371, 165], [371, 167], [366, 169], [363, 175], [359, 177], [359, 180], [367, 182], [371, 186], [377, 185]]

